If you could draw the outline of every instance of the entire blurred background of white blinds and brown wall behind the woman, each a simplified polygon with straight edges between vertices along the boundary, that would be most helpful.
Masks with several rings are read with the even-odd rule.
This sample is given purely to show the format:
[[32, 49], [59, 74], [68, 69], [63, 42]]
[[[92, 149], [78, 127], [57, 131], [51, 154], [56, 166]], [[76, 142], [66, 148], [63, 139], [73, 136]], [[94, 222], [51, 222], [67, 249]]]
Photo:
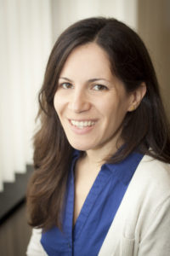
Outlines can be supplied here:
[[115, 17], [149, 49], [170, 119], [170, 0], [0, 0], [0, 255], [26, 255], [26, 184], [48, 55], [71, 23]]

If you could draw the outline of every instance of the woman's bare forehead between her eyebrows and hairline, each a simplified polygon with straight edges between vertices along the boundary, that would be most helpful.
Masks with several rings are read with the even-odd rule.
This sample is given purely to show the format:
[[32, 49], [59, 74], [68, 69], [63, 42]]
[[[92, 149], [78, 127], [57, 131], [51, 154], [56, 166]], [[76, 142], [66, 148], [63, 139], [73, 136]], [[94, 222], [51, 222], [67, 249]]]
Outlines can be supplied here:
[[104, 49], [98, 44], [88, 43], [74, 49], [65, 61], [60, 76], [103, 76], [110, 77], [111, 62]]

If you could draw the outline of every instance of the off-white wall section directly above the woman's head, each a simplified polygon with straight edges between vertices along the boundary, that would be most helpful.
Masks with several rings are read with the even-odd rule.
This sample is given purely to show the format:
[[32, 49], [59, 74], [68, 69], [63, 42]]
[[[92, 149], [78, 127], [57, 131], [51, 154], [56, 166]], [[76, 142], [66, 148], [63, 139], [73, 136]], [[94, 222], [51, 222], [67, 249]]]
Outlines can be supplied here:
[[136, 29], [137, 0], [51, 0], [53, 41], [71, 23], [92, 16], [114, 17]]

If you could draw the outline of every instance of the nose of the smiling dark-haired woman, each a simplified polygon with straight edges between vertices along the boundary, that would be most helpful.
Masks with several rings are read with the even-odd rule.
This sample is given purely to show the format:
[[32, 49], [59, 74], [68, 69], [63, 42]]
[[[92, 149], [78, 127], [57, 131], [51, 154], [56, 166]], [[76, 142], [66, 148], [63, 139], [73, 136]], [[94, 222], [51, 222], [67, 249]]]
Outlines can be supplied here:
[[69, 108], [75, 113], [88, 111], [91, 107], [88, 94], [85, 90], [74, 90], [72, 93]]

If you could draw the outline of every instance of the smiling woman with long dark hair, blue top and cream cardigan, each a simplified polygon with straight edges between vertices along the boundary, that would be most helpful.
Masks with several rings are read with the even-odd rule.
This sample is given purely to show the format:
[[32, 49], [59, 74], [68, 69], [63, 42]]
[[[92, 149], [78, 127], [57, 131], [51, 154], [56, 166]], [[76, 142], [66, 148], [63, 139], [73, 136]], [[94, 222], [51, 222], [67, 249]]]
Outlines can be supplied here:
[[61, 34], [39, 94], [27, 255], [170, 255], [170, 136], [139, 36], [115, 19]]

